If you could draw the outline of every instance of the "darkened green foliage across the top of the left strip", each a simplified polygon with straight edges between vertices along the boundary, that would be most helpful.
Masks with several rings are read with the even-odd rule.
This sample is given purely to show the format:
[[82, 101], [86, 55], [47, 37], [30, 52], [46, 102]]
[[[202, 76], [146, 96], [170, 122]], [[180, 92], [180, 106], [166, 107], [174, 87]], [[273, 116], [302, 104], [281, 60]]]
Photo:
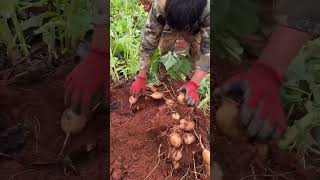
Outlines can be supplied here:
[[[33, 8], [46, 11], [33, 12]], [[92, 29], [93, 14], [90, 0], [3, 0], [0, 2], [0, 43], [6, 45], [9, 57], [15, 61], [21, 54], [29, 56], [30, 45], [26, 39], [30, 39], [27, 37], [30, 33], [27, 32], [34, 32], [32, 36], [41, 34], [51, 60], [51, 55], [57, 58], [58, 54], [77, 48], [79, 40]]]

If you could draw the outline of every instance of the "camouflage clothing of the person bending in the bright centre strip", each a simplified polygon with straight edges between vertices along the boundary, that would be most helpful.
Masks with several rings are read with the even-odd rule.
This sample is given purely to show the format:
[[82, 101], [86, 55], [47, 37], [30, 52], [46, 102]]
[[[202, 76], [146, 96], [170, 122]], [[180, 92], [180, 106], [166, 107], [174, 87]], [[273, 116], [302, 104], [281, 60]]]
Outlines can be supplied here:
[[[172, 51], [176, 39], [183, 37], [190, 44], [191, 55], [203, 71], [210, 71], [210, 0], [207, 0], [199, 20], [183, 31], [177, 31], [165, 23], [165, 0], [154, 0], [145, 25], [139, 54], [140, 70], [150, 68], [151, 56], [157, 47], [161, 54]], [[198, 32], [197, 32], [198, 31]]]

